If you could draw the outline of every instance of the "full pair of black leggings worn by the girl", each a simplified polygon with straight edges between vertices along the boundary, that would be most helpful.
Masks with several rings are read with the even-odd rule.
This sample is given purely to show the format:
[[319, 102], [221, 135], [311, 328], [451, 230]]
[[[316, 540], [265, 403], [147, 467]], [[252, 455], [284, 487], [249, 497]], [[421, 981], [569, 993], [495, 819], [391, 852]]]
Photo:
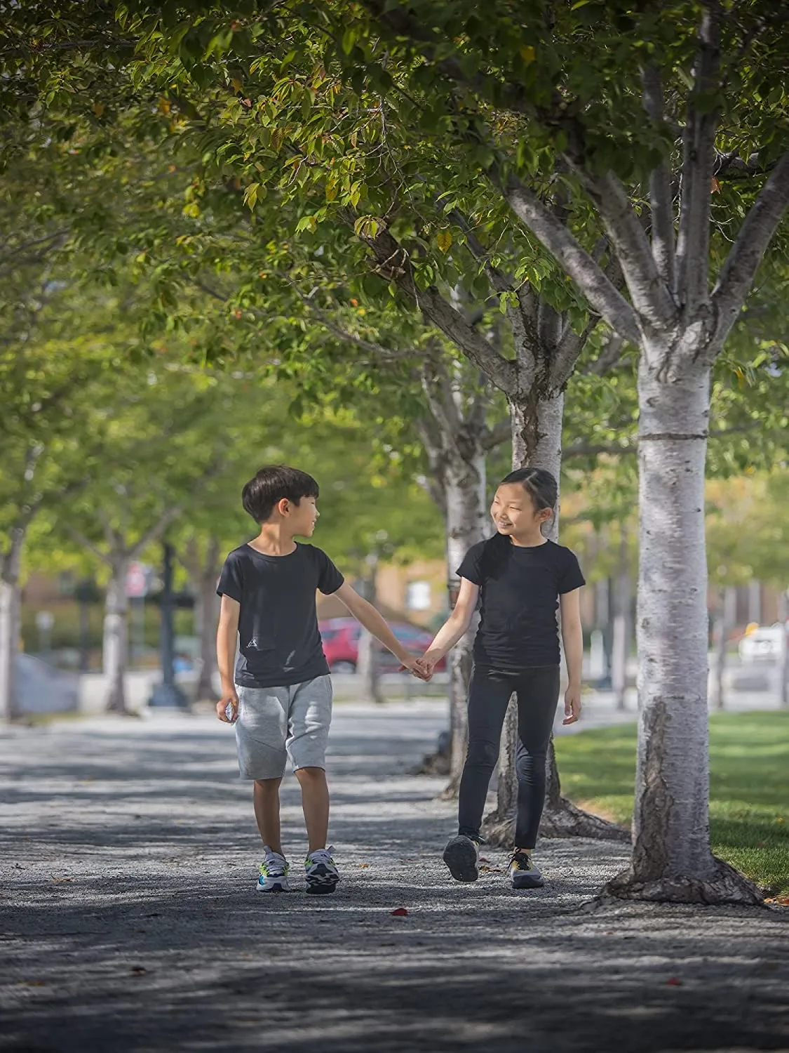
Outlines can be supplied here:
[[480, 836], [490, 776], [499, 759], [510, 695], [518, 695], [515, 847], [531, 849], [545, 803], [545, 754], [559, 701], [559, 665], [520, 673], [474, 668], [468, 692], [468, 753], [458, 808], [459, 833]]

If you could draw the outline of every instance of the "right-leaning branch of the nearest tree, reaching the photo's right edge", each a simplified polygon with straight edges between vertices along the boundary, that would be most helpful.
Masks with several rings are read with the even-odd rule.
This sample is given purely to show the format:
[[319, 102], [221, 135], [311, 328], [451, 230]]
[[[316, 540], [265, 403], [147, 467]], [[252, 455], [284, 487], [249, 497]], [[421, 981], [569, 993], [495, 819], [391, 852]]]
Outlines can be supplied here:
[[723, 347], [731, 326], [753, 284], [756, 269], [789, 205], [789, 151], [769, 175], [731, 246], [712, 291], [717, 315], [717, 331], [712, 347], [714, 357]]

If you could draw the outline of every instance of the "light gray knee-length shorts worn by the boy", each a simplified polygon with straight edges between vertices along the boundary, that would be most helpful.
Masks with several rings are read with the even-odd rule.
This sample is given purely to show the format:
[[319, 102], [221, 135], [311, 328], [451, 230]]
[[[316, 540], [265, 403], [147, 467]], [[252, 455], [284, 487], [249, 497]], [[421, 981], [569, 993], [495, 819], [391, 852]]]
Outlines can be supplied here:
[[236, 748], [245, 779], [278, 779], [290, 758], [294, 771], [326, 767], [331, 722], [331, 677], [285, 688], [236, 686]]

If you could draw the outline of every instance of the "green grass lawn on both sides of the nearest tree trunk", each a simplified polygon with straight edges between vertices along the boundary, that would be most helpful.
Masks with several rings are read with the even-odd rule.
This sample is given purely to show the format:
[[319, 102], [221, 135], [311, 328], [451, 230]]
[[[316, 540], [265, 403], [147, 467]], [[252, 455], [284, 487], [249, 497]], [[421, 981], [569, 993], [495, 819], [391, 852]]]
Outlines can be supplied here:
[[[555, 746], [563, 793], [629, 823], [635, 724], [562, 735]], [[716, 855], [789, 892], [789, 712], [710, 717], [710, 833]]]

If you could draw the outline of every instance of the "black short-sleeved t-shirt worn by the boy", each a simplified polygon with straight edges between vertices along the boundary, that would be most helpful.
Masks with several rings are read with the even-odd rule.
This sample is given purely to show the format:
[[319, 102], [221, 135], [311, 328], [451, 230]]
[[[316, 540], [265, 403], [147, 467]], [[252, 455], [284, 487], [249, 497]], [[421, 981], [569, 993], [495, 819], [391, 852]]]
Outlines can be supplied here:
[[278, 688], [328, 673], [316, 612], [316, 590], [337, 592], [344, 578], [325, 552], [299, 544], [265, 556], [248, 544], [228, 555], [217, 593], [241, 604], [236, 683]]

